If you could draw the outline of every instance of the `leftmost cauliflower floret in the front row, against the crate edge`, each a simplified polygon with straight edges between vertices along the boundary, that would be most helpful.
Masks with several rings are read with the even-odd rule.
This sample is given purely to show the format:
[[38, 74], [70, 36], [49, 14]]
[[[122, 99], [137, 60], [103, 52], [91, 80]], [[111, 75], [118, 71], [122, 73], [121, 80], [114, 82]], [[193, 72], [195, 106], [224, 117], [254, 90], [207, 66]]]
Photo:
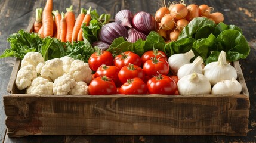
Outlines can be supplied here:
[[27, 94], [53, 94], [53, 82], [43, 77], [36, 77], [27, 88]]

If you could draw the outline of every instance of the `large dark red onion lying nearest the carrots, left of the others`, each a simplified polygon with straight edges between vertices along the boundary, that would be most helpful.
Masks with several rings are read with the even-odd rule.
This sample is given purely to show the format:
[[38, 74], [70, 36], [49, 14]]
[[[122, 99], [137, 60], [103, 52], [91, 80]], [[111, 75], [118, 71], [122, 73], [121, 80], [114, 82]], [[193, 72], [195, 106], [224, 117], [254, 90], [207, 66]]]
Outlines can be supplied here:
[[119, 37], [124, 37], [126, 39], [128, 37], [128, 32], [122, 24], [116, 22], [107, 23], [101, 27], [98, 35], [100, 41], [108, 44], [111, 44], [114, 39]]

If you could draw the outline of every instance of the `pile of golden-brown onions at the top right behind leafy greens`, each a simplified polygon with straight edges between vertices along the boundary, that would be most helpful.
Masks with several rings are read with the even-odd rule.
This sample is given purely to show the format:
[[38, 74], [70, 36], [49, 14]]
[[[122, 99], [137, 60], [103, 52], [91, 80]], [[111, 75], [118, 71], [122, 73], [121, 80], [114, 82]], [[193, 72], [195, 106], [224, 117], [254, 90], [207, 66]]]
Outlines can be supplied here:
[[214, 10], [212, 7], [205, 4], [186, 5], [184, 1], [173, 2], [168, 7], [165, 5], [155, 13], [155, 20], [159, 26], [157, 32], [165, 38], [166, 42], [171, 42], [177, 41], [181, 30], [195, 17], [206, 17], [216, 24], [223, 22], [223, 14], [220, 12], [212, 13], [212, 10]]

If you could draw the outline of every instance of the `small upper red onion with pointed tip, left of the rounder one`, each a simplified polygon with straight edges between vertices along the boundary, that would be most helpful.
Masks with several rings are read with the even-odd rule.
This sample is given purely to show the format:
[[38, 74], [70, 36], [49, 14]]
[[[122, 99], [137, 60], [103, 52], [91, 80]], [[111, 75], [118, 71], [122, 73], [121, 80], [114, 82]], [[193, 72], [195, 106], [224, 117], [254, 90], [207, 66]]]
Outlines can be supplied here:
[[116, 13], [115, 22], [131, 28], [133, 14], [130, 10], [121, 10]]

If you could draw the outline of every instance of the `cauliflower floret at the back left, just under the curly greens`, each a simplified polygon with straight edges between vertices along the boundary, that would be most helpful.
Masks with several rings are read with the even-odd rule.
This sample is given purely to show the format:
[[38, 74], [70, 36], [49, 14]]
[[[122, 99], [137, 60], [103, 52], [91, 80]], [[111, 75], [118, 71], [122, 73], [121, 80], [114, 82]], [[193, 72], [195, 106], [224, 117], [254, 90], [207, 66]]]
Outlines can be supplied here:
[[24, 58], [21, 60], [21, 68], [27, 65], [33, 65], [36, 67], [38, 63], [45, 63], [42, 54], [39, 52], [28, 52]]

